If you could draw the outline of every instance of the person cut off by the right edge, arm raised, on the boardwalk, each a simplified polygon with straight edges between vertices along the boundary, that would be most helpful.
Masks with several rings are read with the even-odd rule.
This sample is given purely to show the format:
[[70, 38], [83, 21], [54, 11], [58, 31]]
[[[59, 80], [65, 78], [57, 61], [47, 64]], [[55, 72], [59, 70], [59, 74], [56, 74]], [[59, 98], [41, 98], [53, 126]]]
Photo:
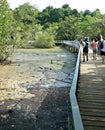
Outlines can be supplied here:
[[105, 61], [105, 40], [103, 39], [103, 36], [100, 35], [100, 41], [101, 41], [101, 57], [102, 57], [102, 63]]

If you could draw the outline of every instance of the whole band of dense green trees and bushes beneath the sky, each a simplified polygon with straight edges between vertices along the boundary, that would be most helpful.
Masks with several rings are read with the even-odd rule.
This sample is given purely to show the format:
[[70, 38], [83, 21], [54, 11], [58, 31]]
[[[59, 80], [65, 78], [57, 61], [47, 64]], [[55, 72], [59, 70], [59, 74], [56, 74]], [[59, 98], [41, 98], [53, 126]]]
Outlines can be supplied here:
[[92, 40], [105, 35], [105, 14], [99, 9], [78, 12], [68, 4], [62, 8], [46, 7], [39, 11], [25, 3], [12, 10], [6, 0], [0, 2], [0, 60], [14, 47], [54, 47], [54, 40]]

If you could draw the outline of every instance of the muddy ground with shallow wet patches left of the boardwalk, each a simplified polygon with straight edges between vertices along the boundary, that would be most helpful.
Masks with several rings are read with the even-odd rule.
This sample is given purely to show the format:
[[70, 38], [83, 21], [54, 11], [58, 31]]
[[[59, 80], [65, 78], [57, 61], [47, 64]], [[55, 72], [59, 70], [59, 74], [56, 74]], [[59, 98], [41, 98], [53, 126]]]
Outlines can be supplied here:
[[0, 130], [67, 130], [76, 55], [20, 49], [0, 65]]

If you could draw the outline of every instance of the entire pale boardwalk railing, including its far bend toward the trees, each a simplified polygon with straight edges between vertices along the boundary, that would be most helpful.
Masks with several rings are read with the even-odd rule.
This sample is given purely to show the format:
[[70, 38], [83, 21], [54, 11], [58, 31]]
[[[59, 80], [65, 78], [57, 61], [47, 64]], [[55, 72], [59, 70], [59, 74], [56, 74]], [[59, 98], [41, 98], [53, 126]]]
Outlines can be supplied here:
[[[76, 98], [76, 87], [77, 87], [77, 82], [78, 82], [78, 76], [79, 76], [79, 68], [80, 68], [80, 55], [81, 55], [81, 49], [80, 49], [80, 44], [77, 40], [75, 41], [66, 41], [66, 40], [61, 40], [61, 41], [56, 41], [57, 43], [59, 42], [60, 44], [65, 44], [67, 46], [72, 46], [78, 49], [78, 57], [77, 57], [77, 63], [76, 63], [76, 69], [74, 72], [74, 77], [70, 89], [70, 107], [68, 108], [70, 113], [72, 115], [72, 119], [68, 120], [68, 130], [84, 130], [78, 103], [77, 103], [77, 98]], [[72, 124], [70, 124], [70, 120], [72, 120]]]

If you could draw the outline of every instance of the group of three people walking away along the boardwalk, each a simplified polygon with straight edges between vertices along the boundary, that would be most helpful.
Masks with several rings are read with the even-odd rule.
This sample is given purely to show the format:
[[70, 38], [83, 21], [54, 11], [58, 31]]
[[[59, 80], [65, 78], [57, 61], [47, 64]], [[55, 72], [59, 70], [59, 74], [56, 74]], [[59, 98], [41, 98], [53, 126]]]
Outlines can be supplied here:
[[[102, 57], [102, 63], [105, 61], [105, 40], [103, 39], [102, 35], [100, 35], [100, 42], [97, 39], [93, 39], [91, 46], [93, 50], [93, 60], [97, 59], [98, 47], [100, 46], [100, 55]], [[88, 61], [88, 51], [89, 51], [89, 39], [84, 38], [81, 40], [81, 44], [83, 46], [83, 62]]]

